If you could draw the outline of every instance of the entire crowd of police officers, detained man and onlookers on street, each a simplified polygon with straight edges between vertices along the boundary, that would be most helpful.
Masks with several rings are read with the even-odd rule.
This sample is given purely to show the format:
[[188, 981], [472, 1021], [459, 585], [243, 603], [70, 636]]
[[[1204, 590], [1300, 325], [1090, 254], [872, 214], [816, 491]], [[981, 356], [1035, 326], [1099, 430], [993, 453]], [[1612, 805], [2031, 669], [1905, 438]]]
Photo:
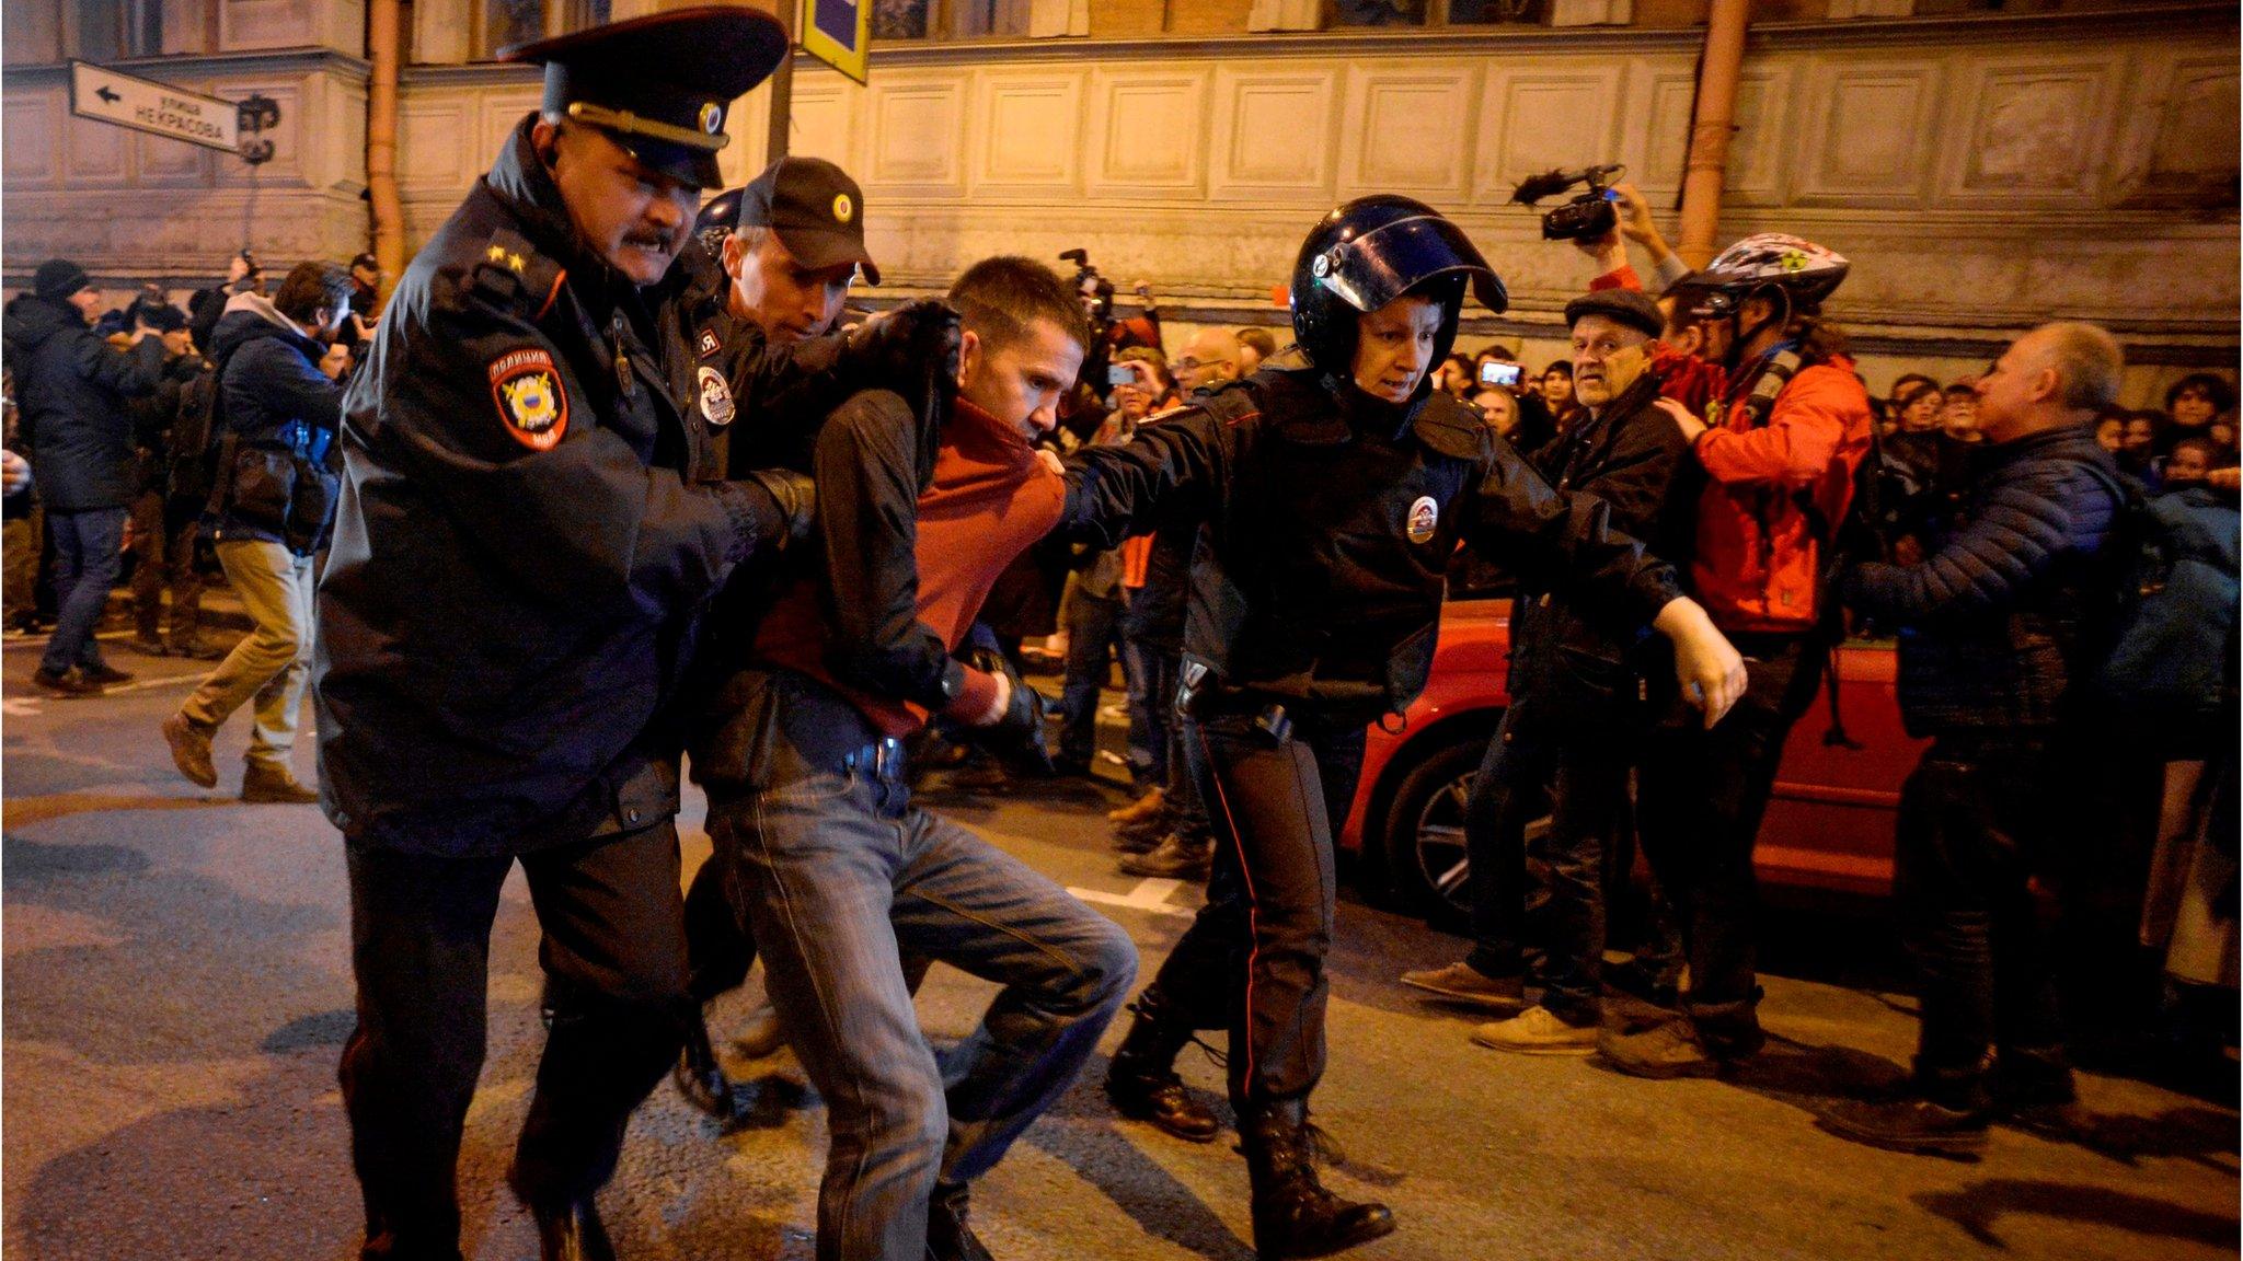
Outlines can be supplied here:
[[[215, 785], [211, 736], [253, 707], [242, 797], [316, 799], [345, 839], [370, 1257], [455, 1254], [516, 862], [550, 1032], [511, 1185], [547, 1259], [612, 1257], [592, 1196], [664, 1075], [731, 1115], [704, 1007], [758, 960], [740, 1046], [792, 1043], [830, 1108], [819, 1257], [989, 1257], [973, 1180], [1124, 1005], [1106, 1093], [1180, 1140], [1222, 1122], [1175, 1059], [1227, 1034], [1261, 1257], [1395, 1230], [1321, 1185], [1308, 1122], [1332, 832], [1462, 565], [1514, 588], [1510, 707], [1467, 803], [1469, 954], [1402, 983], [1496, 1016], [1476, 1043], [1651, 1079], [1761, 1052], [1754, 841], [1848, 633], [1898, 635], [1902, 716], [1931, 740], [1895, 846], [1922, 1037], [1907, 1090], [1826, 1124], [1907, 1151], [2055, 1124], [2068, 920], [2041, 889], [2064, 915], [2106, 900], [2117, 864], [2086, 832], [2129, 810], [2153, 819], [2129, 949], [2156, 954], [2169, 1014], [2232, 1039], [2205, 998], [2232, 1016], [2225, 377], [2115, 411], [2120, 343], [2059, 321], [1969, 381], [1873, 397], [1826, 314], [1844, 256], [1759, 233], [1691, 269], [1628, 188], [1579, 242], [1570, 355], [1539, 375], [1458, 352], [1503, 280], [1395, 195], [1308, 231], [1285, 339], [1169, 350], [1151, 287], [1119, 316], [1086, 258], [1072, 280], [987, 258], [942, 301], [852, 316], [879, 269], [846, 171], [778, 159], [702, 202], [727, 103], [783, 49], [749, 9], [514, 49], [545, 101], [386, 312], [370, 258], [267, 296], [247, 254], [108, 337], [67, 260], [7, 310], [29, 455], [4, 469], [11, 617], [36, 608], [25, 496], [54, 554], [34, 684], [130, 678], [94, 635], [128, 539], [135, 646], [211, 655], [209, 539], [256, 630], [164, 722], [173, 761]], [[1023, 671], [1052, 633], [1056, 705]], [[962, 758], [1095, 774], [1117, 669], [1119, 868], [1207, 882], [1142, 987], [1128, 933], [913, 792]], [[287, 770], [307, 687], [316, 792]], [[2162, 792], [2120, 801], [2120, 747]], [[713, 855], [680, 893], [686, 767]], [[2120, 806], [2090, 808], [2106, 788]], [[1606, 963], [1631, 817], [1664, 967]], [[1000, 985], [940, 1057], [913, 1014], [931, 963]]]

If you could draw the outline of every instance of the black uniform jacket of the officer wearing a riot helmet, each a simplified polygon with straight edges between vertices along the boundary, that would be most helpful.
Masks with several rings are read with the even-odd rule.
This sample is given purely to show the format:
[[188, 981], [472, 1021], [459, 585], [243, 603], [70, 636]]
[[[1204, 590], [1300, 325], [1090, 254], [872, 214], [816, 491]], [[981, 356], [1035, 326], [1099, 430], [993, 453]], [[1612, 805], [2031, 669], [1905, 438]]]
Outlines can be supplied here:
[[1339, 725], [1424, 691], [1458, 541], [1622, 624], [1680, 595], [1602, 500], [1550, 489], [1476, 411], [1424, 390], [1382, 404], [1312, 368], [1265, 368], [1077, 451], [1061, 527], [1110, 545], [1173, 500], [1204, 518], [1184, 657]]

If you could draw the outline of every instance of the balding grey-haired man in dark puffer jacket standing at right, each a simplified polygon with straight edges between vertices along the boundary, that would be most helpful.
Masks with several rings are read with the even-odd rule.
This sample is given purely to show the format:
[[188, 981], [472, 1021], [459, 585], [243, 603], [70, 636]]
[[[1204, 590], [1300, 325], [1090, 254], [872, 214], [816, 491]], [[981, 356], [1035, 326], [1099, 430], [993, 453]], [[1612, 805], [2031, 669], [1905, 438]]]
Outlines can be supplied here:
[[1900, 797], [1895, 873], [1922, 972], [1916, 1077], [1826, 1117], [1857, 1142], [1976, 1151], [1996, 1117], [2073, 1102], [2030, 882], [2093, 779], [2075, 671], [2108, 646], [2093, 610], [2117, 581], [2126, 496], [2093, 424], [2122, 366], [2088, 323], [2016, 339], [1974, 384], [1987, 447], [1963, 516], [1916, 565], [1846, 572], [1846, 604], [1898, 626], [1900, 711], [1933, 740]]

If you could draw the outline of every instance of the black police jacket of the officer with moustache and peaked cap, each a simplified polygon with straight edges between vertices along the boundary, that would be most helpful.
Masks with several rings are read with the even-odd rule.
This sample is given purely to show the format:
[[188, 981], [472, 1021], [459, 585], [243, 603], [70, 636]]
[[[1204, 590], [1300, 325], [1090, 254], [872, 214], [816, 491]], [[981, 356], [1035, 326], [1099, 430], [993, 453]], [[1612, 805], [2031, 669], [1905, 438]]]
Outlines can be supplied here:
[[[677, 808], [695, 613], [785, 530], [709, 433], [799, 384], [700, 247], [637, 289], [525, 119], [406, 269], [343, 399], [319, 592], [321, 803], [354, 841], [518, 853]], [[830, 363], [828, 363], [830, 366]]]

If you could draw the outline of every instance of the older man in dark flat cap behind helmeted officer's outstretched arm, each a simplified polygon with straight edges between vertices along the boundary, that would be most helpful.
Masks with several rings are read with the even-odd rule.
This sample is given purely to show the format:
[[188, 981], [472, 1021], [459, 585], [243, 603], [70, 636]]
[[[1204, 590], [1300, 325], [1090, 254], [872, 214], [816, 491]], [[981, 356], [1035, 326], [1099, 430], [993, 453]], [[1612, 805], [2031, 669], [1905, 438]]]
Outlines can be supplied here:
[[[1593, 289], [1566, 303], [1572, 388], [1581, 411], [1532, 462], [1561, 491], [1610, 505], [1615, 530], [1667, 561], [1689, 556], [1696, 464], [1649, 372], [1664, 325], [1640, 289]], [[1471, 781], [1474, 949], [1462, 963], [1406, 972], [1404, 983], [1510, 1019], [1474, 1030], [1480, 1046], [1527, 1055], [1597, 1048], [1604, 960], [1604, 846], [1626, 801], [1649, 722], [1680, 707], [1673, 653], [1649, 626], [1615, 626], [1563, 588], [1521, 588], [1512, 613], [1512, 707]], [[1548, 949], [1523, 978], [1525, 826], [1550, 797]], [[1543, 990], [1523, 1007], [1523, 985]]]

